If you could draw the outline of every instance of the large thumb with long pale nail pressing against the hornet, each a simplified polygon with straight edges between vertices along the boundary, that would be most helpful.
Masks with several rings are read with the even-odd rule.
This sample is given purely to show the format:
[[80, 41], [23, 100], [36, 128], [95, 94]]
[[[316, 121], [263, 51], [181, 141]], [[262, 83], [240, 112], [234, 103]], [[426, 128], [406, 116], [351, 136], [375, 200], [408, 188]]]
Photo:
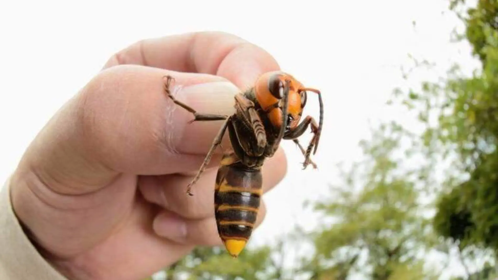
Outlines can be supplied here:
[[34, 177], [58, 193], [82, 194], [120, 173], [195, 171], [223, 121], [188, 124], [194, 116], [165, 95], [164, 75], [174, 78], [173, 96], [198, 112], [234, 112], [238, 88], [224, 78], [137, 65], [112, 67], [48, 122], [14, 177]]

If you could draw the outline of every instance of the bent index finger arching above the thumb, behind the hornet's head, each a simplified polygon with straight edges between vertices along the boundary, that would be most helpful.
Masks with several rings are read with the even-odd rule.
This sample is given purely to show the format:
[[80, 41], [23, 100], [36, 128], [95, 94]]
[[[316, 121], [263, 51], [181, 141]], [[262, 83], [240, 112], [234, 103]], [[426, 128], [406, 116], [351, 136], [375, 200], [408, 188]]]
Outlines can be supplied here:
[[104, 68], [138, 64], [224, 77], [240, 89], [262, 73], [280, 70], [262, 48], [233, 34], [193, 32], [138, 41], [113, 55]]

